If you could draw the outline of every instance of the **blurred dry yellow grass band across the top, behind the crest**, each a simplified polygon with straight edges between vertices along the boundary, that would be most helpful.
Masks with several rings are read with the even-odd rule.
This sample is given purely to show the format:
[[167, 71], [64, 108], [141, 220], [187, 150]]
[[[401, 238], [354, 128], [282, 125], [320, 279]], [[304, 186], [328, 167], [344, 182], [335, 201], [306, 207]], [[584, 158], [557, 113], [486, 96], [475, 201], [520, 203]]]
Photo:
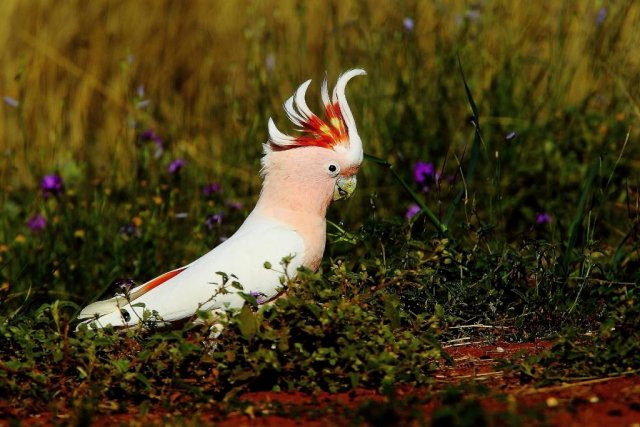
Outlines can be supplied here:
[[[252, 181], [266, 117], [282, 119], [279, 104], [293, 86], [354, 66], [370, 73], [354, 89], [366, 93], [357, 108], [367, 148], [384, 155], [392, 147], [380, 128], [404, 108], [390, 97], [398, 82], [408, 89], [402, 104], [418, 115], [464, 114], [437, 96], [461, 94], [457, 53], [480, 101], [511, 79], [506, 96], [536, 112], [501, 111], [496, 120], [539, 120], [585, 102], [633, 113], [640, 4], [610, 5], [598, 25], [607, 4], [3, 0], [0, 96], [20, 107], [0, 109], [0, 179], [19, 188], [46, 172], [82, 168], [135, 179], [126, 171], [137, 155], [130, 124], [138, 121], [207, 174]], [[405, 17], [415, 22], [410, 37]], [[135, 106], [139, 85], [147, 109]]]

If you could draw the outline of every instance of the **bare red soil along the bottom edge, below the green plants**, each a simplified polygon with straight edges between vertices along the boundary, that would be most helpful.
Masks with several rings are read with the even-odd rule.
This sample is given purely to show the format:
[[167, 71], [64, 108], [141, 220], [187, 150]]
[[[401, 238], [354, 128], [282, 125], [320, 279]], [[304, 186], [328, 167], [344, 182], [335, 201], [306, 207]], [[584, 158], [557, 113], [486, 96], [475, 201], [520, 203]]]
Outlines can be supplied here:
[[[640, 426], [640, 378], [626, 376], [601, 378], [579, 383], [562, 384], [554, 387], [535, 388], [521, 384], [515, 378], [504, 376], [497, 369], [499, 359], [509, 359], [518, 352], [539, 352], [549, 347], [548, 342], [527, 344], [486, 343], [465, 344], [446, 348], [455, 361], [454, 366], [443, 363], [435, 376], [435, 392], [424, 389], [399, 388], [398, 401], [412, 396], [420, 398], [418, 405], [429, 419], [441, 406], [437, 390], [451, 384], [482, 383], [490, 388], [491, 394], [477, 399], [485, 411], [490, 413], [509, 412], [526, 414], [538, 411], [544, 413], [551, 425], [570, 426]], [[382, 407], [387, 398], [376, 391], [356, 389], [348, 393], [300, 392], [254, 392], [245, 393], [240, 399], [248, 403], [244, 412], [222, 415], [204, 409], [192, 414], [175, 414], [166, 410], [151, 409], [140, 414], [137, 408], [130, 413], [103, 415], [93, 418], [94, 425], [119, 424], [210, 424], [219, 426], [339, 426], [349, 425], [357, 408], [363, 405]], [[2, 405], [0, 405], [2, 406]], [[4, 412], [4, 411], [0, 411]], [[283, 416], [281, 414], [288, 414]], [[179, 417], [179, 418], [177, 418]], [[528, 419], [527, 419], [528, 420]], [[25, 424], [49, 425], [67, 421], [40, 414], [23, 420]], [[0, 419], [0, 425], [5, 425]], [[404, 425], [404, 424], [398, 424]]]

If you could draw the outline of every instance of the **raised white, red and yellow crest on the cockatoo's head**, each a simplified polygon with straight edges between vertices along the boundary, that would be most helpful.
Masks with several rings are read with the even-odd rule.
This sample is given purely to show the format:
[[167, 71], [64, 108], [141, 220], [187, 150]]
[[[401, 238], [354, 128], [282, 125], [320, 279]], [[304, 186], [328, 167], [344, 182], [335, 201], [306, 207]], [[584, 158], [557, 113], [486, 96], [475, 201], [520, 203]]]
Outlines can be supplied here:
[[302, 135], [286, 135], [278, 130], [272, 119], [269, 119], [269, 148], [280, 151], [310, 146], [334, 150], [342, 147], [361, 159], [362, 142], [351, 109], [347, 104], [345, 87], [351, 78], [364, 74], [366, 74], [364, 70], [354, 69], [340, 75], [331, 98], [329, 98], [325, 78], [322, 82], [321, 95], [326, 121], [311, 112], [305, 101], [305, 94], [311, 80], [302, 83], [293, 96], [284, 103], [284, 110], [289, 120], [298, 127], [297, 130]]

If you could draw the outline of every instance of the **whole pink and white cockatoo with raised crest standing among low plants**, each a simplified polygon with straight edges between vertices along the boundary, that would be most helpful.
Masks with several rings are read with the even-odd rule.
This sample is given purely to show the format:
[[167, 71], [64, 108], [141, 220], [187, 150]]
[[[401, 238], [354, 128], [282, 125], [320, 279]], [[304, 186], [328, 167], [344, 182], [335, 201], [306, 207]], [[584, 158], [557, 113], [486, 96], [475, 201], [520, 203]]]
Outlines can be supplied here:
[[140, 323], [143, 311], [150, 310], [171, 323], [194, 318], [199, 310], [241, 308], [245, 298], [236, 289], [221, 292], [228, 282], [238, 282], [242, 292], [264, 303], [283, 293], [283, 276], [294, 277], [301, 266], [317, 270], [325, 248], [327, 207], [351, 196], [362, 163], [362, 141], [345, 86], [364, 74], [361, 69], [342, 74], [331, 98], [325, 78], [321, 96], [326, 121], [306, 104], [311, 80], [300, 85], [284, 103], [298, 136], [284, 134], [269, 119], [260, 198], [230, 238], [184, 267], [90, 304], [78, 319], [98, 328], [126, 327]]

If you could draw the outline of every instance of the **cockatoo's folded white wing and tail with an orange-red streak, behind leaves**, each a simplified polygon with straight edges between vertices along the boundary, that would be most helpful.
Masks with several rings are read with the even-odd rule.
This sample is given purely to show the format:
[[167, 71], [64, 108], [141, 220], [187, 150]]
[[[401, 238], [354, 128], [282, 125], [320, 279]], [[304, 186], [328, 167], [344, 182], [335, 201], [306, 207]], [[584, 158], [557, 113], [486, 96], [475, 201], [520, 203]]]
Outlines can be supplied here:
[[[231, 283], [237, 281], [242, 292], [275, 297], [285, 275], [281, 265], [292, 256], [286, 274], [293, 277], [302, 265], [305, 244], [295, 230], [278, 221], [246, 221], [229, 239], [186, 267], [182, 267], [132, 289], [122, 295], [87, 306], [79, 319], [98, 325], [126, 326], [140, 322], [143, 311], [152, 310], [171, 322], [188, 318], [200, 310], [238, 308], [244, 299]], [[271, 268], [265, 268], [268, 262]], [[224, 274], [222, 274], [224, 273]], [[221, 292], [224, 276], [226, 290]]]

